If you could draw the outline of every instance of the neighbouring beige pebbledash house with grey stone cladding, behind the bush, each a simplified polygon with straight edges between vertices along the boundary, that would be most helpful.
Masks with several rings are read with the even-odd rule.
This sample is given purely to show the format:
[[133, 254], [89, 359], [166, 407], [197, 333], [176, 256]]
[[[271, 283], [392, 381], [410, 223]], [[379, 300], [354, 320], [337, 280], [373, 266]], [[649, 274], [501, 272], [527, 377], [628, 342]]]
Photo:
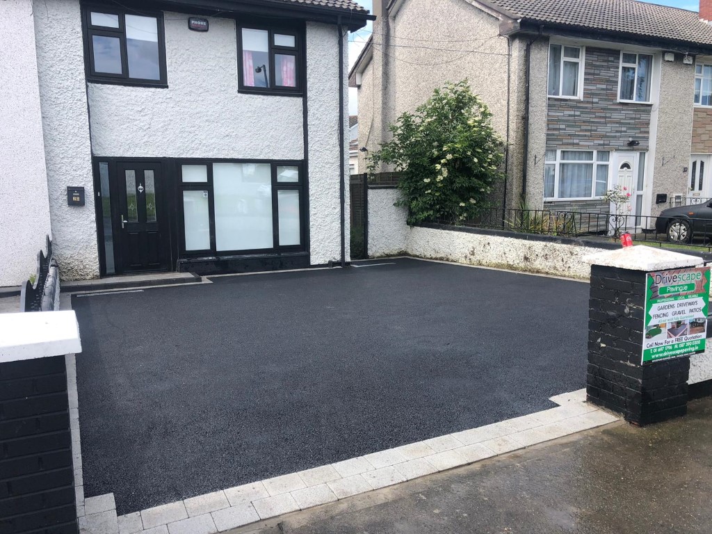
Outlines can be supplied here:
[[468, 78], [506, 141], [504, 207], [608, 214], [617, 184], [636, 216], [712, 197], [712, 1], [699, 14], [634, 0], [376, 0], [374, 12], [350, 72], [367, 150]]

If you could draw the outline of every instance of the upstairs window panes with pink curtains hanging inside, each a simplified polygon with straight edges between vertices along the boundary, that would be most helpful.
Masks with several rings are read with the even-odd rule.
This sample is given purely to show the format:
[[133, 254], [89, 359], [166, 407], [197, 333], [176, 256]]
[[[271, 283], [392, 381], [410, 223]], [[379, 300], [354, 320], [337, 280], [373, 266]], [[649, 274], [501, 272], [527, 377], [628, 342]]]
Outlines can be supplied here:
[[239, 29], [240, 89], [254, 92], [300, 91], [300, 36], [273, 28]]

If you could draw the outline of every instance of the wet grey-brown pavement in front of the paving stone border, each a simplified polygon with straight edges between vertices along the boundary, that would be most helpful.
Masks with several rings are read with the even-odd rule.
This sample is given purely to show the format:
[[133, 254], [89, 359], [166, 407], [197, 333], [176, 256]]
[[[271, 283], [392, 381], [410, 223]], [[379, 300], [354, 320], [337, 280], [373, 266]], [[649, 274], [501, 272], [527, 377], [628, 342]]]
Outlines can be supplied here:
[[711, 442], [708, 397], [231, 534], [708, 534]]

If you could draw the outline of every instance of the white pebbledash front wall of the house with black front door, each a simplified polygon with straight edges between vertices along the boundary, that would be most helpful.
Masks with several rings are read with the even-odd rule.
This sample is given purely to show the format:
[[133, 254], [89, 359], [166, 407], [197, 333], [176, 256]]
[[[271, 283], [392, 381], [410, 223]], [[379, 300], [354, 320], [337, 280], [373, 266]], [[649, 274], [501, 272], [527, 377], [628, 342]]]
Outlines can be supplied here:
[[[63, 278], [99, 274], [92, 154], [306, 159], [302, 98], [238, 93], [235, 21], [209, 18], [209, 31], [200, 33], [189, 31], [189, 15], [164, 12], [168, 88], [146, 88], [85, 84], [78, 0], [53, 0], [47, 6], [36, 0], [34, 13], [50, 206]], [[335, 25], [307, 24], [309, 224], [315, 265], [340, 259], [337, 39]], [[346, 50], [346, 37], [344, 42]], [[345, 169], [347, 164], [346, 148]], [[85, 187], [86, 206], [66, 205], [67, 186]], [[347, 217], [346, 225], [348, 236]], [[346, 247], [348, 260], [348, 238]]]

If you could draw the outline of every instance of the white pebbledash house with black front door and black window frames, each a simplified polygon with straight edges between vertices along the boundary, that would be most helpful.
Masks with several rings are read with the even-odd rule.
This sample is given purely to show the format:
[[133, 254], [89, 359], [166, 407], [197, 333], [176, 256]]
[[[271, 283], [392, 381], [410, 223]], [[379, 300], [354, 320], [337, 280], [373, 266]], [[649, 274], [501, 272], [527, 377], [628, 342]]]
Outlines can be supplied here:
[[6, 0], [0, 286], [349, 260], [351, 0]]

